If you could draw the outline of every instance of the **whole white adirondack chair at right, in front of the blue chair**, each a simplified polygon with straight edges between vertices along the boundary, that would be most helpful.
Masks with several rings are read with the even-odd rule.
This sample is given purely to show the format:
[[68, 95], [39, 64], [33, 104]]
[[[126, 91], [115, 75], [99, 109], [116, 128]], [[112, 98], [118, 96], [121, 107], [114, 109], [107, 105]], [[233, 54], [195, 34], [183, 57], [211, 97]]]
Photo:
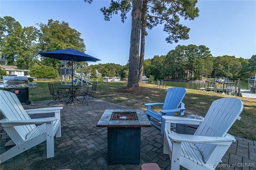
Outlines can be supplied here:
[[[235, 138], [228, 130], [243, 111], [238, 98], [222, 98], [213, 101], [204, 120], [163, 116], [164, 154], [169, 154], [171, 170], [215, 169]], [[194, 135], [178, 134], [170, 130], [171, 123], [199, 125]]]

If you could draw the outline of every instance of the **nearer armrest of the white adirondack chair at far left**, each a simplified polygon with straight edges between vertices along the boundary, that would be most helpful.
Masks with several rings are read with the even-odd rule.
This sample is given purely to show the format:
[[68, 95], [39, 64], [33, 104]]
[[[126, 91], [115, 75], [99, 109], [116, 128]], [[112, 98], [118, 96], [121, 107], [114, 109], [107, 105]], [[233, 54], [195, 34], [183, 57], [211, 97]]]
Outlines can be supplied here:
[[45, 118], [34, 118], [30, 120], [20, 120], [20, 121], [8, 121], [6, 118], [0, 121], [0, 124], [5, 127], [12, 127], [12, 126], [22, 126], [22, 125], [29, 125], [29, 124], [49, 124], [53, 121], [57, 120], [57, 117], [45, 117]]

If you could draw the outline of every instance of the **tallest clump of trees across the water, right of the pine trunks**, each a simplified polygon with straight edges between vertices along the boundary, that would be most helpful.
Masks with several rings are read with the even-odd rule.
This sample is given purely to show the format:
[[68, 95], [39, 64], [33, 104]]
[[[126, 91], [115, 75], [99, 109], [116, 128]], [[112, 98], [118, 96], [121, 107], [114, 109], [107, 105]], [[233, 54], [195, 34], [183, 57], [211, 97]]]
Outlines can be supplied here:
[[165, 76], [171, 79], [207, 77], [212, 72], [212, 54], [203, 45], [178, 45], [166, 55], [165, 67]]

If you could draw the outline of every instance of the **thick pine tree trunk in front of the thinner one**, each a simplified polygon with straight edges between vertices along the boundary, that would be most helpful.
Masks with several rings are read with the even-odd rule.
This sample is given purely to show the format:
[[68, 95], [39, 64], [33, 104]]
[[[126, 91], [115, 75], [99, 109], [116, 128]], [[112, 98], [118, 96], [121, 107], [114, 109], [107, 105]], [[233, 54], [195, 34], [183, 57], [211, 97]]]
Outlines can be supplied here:
[[132, 0], [132, 30], [130, 39], [129, 75], [127, 87], [139, 87], [141, 0]]

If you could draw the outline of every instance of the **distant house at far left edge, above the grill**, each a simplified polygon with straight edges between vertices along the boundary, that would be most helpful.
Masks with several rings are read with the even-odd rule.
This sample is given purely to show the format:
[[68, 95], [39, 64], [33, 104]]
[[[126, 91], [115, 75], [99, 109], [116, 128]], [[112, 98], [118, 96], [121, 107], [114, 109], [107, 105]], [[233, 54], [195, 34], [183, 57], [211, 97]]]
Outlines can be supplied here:
[[7, 61], [0, 58], [0, 67], [1, 69], [6, 71], [7, 75], [15, 75], [15, 76], [27, 76], [29, 77], [29, 70], [19, 70], [15, 65], [6, 65]]

